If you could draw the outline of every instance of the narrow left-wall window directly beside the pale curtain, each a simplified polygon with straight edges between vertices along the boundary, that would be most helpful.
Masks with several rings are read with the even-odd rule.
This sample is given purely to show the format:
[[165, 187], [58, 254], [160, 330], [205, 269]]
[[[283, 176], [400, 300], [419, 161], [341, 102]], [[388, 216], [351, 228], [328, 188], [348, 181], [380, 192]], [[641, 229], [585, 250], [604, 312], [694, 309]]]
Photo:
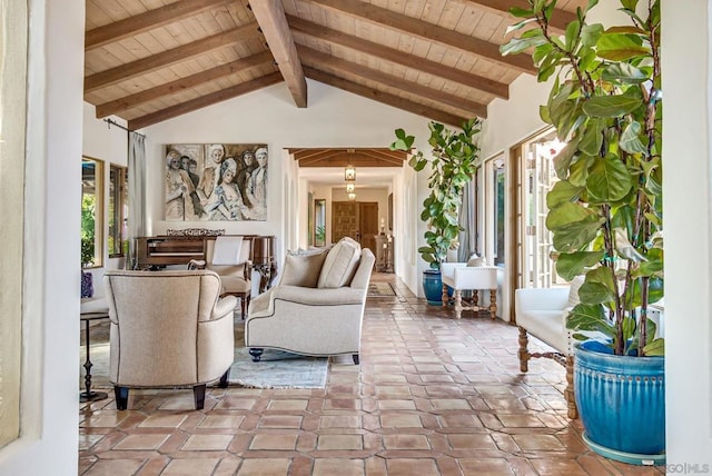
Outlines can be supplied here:
[[109, 258], [128, 255], [128, 169], [109, 167]]

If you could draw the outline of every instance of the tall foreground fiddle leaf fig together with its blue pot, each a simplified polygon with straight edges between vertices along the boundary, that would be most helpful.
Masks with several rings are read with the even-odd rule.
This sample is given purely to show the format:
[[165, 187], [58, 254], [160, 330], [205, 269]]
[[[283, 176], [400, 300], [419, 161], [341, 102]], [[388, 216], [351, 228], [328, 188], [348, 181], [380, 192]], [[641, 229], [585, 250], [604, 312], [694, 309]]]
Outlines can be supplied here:
[[[590, 0], [554, 36], [555, 0], [511, 12], [524, 31], [501, 48], [531, 51], [541, 108], [567, 146], [547, 195], [556, 271], [585, 276], [567, 325], [584, 438], [595, 452], [636, 464], [664, 463], [663, 339], [649, 305], [663, 297], [660, 2], [620, 0], [624, 26], [590, 24]], [[591, 337], [596, 337], [591, 339]]]

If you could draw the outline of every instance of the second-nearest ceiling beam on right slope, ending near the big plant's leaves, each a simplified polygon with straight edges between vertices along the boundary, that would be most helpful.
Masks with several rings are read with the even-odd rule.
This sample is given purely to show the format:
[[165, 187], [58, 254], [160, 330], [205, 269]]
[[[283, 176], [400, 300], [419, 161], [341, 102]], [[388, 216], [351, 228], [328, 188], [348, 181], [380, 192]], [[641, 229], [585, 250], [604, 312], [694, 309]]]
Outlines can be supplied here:
[[457, 31], [447, 30], [428, 23], [427, 21], [418, 20], [370, 3], [365, 3], [359, 0], [312, 0], [312, 3], [318, 3], [335, 11], [348, 13], [358, 20], [372, 21], [386, 28], [397, 29], [428, 41], [437, 41], [477, 54], [504, 68], [514, 68], [532, 75], [536, 72], [530, 54], [503, 57], [500, 53], [500, 44], [491, 43], [490, 41], [469, 37]]

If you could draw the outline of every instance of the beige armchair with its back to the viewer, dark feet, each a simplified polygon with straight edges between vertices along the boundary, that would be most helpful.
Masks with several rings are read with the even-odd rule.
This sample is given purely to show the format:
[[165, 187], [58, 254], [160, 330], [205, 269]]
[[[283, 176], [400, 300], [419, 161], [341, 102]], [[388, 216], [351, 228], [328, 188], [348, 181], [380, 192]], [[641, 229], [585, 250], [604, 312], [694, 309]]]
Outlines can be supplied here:
[[108, 270], [103, 285], [118, 409], [127, 408], [130, 387], [192, 386], [201, 409], [207, 383], [227, 386], [237, 299], [219, 298], [216, 272]]

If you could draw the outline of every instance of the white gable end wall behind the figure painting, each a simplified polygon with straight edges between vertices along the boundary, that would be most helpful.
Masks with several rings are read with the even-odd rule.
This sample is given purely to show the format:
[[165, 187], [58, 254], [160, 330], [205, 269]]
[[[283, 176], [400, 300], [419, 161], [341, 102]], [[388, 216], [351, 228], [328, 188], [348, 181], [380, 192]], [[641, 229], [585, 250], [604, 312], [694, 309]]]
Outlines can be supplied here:
[[[284, 148], [388, 147], [397, 128], [418, 136], [427, 133], [428, 121], [425, 118], [316, 81], [308, 80], [307, 85], [309, 106], [305, 109], [294, 105], [287, 87], [280, 83], [146, 128], [149, 234], [196, 226], [225, 228], [234, 234], [275, 235], [280, 262], [284, 250], [298, 247], [306, 236], [303, 229], [306, 208], [299, 210], [296, 205], [306, 204], [303, 197], [308, 191], [304, 184], [299, 189], [294, 178], [294, 160], [281, 153]], [[267, 143], [267, 221], [165, 221], [162, 147], [171, 142]], [[422, 180], [421, 186], [425, 179]], [[285, 200], [289, 190], [296, 195]], [[324, 197], [315, 195], [315, 198]], [[416, 287], [407, 279], [406, 284]]]

